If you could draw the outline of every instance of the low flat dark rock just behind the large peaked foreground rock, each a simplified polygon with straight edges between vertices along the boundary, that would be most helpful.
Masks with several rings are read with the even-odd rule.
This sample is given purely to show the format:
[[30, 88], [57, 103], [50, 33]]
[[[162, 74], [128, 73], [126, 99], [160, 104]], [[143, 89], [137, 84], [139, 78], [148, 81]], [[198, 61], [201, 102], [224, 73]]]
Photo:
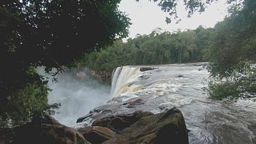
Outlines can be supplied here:
[[134, 124], [134, 122], [140, 120], [141, 117], [148, 115], [153, 115], [153, 113], [145, 111], [135, 111], [134, 113], [130, 113], [127, 115], [109, 116], [106, 118], [95, 120], [92, 126], [107, 127], [115, 132], [121, 132], [126, 127], [129, 127], [129, 125], [132, 125]]

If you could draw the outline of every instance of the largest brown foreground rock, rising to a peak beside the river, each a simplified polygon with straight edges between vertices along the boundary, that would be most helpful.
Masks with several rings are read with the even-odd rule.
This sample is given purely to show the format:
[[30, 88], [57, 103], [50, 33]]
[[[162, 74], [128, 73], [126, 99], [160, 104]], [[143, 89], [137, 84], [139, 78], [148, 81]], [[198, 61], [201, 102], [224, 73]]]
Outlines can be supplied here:
[[115, 143], [178, 143], [188, 144], [188, 132], [182, 113], [177, 108], [156, 115], [142, 116], [122, 133], [104, 141]]

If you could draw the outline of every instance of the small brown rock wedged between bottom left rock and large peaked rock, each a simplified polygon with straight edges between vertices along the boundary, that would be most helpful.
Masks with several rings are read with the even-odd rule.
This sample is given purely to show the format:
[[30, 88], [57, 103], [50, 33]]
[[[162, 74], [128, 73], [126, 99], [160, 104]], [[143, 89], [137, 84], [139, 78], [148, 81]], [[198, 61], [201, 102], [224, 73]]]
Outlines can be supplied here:
[[92, 126], [78, 129], [84, 138], [92, 144], [100, 144], [106, 140], [109, 140], [115, 136], [115, 132], [106, 127]]

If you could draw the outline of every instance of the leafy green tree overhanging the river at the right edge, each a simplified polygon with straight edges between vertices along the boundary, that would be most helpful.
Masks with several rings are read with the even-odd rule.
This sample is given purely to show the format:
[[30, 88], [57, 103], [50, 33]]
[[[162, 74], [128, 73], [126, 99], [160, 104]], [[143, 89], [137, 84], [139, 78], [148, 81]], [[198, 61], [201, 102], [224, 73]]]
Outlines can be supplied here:
[[[256, 93], [256, 2], [233, 3], [230, 15], [216, 24], [216, 38], [207, 67], [214, 99], [253, 99]], [[255, 99], [253, 99], [255, 100]]]

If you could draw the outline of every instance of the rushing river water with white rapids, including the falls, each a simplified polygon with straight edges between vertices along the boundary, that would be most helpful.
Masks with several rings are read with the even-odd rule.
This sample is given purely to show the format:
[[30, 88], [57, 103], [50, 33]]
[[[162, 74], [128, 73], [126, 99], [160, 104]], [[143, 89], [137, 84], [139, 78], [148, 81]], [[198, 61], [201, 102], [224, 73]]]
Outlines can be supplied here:
[[[83, 123], [76, 127], [90, 125], [93, 120], [104, 116], [132, 113], [139, 109], [159, 113], [175, 106], [182, 111], [190, 130], [189, 143], [256, 143], [256, 104], [247, 100], [232, 103], [209, 99], [202, 90], [206, 86], [202, 82], [209, 73], [199, 70], [201, 64], [153, 65], [147, 67], [154, 67], [154, 70], [145, 72], [140, 72], [139, 66], [116, 68], [111, 99], [106, 105], [91, 110], [84, 116]], [[81, 100], [99, 100], [104, 96], [87, 97], [86, 91], [81, 95], [84, 95], [79, 97]], [[125, 103], [136, 99], [141, 103], [132, 107]], [[88, 109], [84, 111], [88, 112]]]

